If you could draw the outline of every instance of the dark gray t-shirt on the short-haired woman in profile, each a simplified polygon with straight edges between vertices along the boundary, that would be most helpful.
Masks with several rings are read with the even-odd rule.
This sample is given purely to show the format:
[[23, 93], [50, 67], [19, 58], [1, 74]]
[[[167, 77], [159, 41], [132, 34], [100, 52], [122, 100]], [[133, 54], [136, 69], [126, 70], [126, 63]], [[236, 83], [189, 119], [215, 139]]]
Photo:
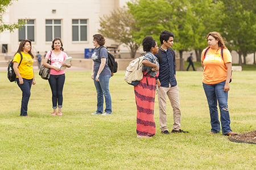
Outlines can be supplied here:
[[[108, 50], [103, 46], [98, 47], [98, 48], [95, 48], [93, 50], [93, 54], [92, 54], [92, 59], [94, 61], [94, 74], [97, 74], [98, 73], [98, 69], [100, 68], [100, 65], [101, 65], [101, 58], [106, 58], [106, 65], [104, 67], [104, 69], [101, 71], [101, 74], [100, 75], [110, 75], [111, 74], [111, 71], [109, 69], [109, 66], [108, 66]], [[101, 53], [99, 53], [99, 49], [101, 49]]]

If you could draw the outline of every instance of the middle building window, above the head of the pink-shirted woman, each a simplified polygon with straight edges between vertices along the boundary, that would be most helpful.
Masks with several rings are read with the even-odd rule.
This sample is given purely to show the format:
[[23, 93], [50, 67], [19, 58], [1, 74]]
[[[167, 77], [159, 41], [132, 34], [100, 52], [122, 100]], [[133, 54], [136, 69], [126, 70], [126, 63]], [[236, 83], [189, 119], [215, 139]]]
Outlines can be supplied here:
[[52, 41], [56, 37], [61, 38], [61, 20], [47, 19], [46, 20], [46, 41]]

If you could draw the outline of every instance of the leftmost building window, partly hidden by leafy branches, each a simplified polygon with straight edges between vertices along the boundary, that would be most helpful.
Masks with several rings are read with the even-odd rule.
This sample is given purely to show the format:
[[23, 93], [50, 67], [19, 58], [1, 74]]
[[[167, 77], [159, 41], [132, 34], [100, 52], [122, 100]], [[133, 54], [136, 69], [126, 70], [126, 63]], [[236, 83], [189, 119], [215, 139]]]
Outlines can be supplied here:
[[30, 19], [30, 20], [25, 20], [26, 25], [24, 27], [19, 28], [19, 41], [23, 39], [28, 39], [32, 42], [35, 41], [35, 20]]

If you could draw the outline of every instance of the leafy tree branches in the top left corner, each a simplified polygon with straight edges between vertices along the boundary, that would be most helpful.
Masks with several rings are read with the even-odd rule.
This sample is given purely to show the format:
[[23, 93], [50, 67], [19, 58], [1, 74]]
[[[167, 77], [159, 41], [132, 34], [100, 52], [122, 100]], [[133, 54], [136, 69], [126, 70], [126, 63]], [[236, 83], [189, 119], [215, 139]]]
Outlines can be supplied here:
[[[15, 0], [18, 1], [18, 0]], [[10, 32], [14, 31], [16, 28], [22, 27], [25, 22], [24, 20], [19, 20], [18, 23], [13, 23], [13, 24], [5, 24], [3, 21], [3, 13], [5, 13], [6, 9], [8, 6], [10, 6], [11, 0], [0, 0], [0, 33], [9, 30]]]

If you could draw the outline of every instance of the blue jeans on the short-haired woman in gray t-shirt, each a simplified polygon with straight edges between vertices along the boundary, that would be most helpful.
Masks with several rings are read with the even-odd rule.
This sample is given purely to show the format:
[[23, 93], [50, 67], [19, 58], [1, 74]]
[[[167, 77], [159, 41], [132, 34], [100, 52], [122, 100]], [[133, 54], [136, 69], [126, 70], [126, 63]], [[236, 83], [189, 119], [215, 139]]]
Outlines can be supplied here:
[[97, 113], [103, 113], [103, 95], [105, 97], [106, 109], [105, 113], [112, 113], [112, 101], [109, 92], [109, 79], [111, 75], [100, 75], [99, 82], [96, 81], [96, 74], [94, 74], [94, 85], [97, 91]]

